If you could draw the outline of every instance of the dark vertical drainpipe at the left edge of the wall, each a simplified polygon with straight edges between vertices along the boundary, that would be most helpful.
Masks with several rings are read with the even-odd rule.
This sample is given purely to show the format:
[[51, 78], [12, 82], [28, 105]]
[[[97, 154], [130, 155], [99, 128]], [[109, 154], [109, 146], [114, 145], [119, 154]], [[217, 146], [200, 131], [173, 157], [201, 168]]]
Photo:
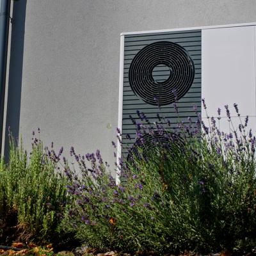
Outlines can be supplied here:
[[[4, 93], [11, 0], [0, 0], [0, 152], [2, 150]], [[5, 136], [5, 134], [4, 134]], [[2, 156], [2, 154], [1, 154]]]

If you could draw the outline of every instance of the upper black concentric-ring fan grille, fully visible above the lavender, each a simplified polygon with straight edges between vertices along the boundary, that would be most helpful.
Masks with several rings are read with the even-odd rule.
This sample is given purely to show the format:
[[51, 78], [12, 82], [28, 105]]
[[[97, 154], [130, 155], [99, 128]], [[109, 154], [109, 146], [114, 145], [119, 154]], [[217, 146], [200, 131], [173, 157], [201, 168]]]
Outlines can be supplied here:
[[[164, 81], [156, 79], [156, 68], [168, 68]], [[191, 87], [195, 67], [188, 52], [172, 42], [156, 42], [141, 49], [131, 62], [129, 83], [132, 91], [151, 105], [168, 105], [183, 97]]]

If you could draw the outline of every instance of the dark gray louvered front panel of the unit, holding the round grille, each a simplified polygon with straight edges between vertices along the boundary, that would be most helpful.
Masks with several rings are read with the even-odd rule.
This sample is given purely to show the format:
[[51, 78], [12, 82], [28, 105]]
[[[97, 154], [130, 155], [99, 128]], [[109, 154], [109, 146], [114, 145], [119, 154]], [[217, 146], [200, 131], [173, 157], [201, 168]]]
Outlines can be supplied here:
[[[130, 72], [129, 72], [130, 70]], [[136, 140], [136, 127], [129, 115], [139, 120], [136, 110], [151, 123], [157, 113], [176, 126], [173, 108], [173, 88], [179, 101], [179, 116], [188, 122], [196, 120], [193, 105], [201, 108], [201, 31], [175, 31], [125, 35], [124, 37], [124, 92], [122, 114], [122, 152]], [[154, 102], [157, 96], [161, 111]], [[129, 134], [132, 140], [125, 138]]]

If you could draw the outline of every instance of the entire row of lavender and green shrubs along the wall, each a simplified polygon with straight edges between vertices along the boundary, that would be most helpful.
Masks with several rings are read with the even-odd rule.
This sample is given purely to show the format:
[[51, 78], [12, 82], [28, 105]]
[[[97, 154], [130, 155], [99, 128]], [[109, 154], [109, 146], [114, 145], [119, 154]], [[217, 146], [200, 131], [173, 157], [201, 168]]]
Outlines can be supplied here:
[[[199, 115], [195, 124], [178, 119], [174, 129], [161, 116], [151, 126], [138, 112], [145, 124], [136, 125], [136, 145], [117, 166], [121, 184], [99, 150], [82, 156], [71, 148], [71, 167], [60, 161], [62, 150], [43, 149], [35, 139], [28, 156], [12, 139], [10, 162], [0, 162], [0, 240], [6, 223], [18, 227], [23, 240], [50, 241], [65, 230], [99, 250], [250, 252], [256, 244], [256, 138], [248, 117], [234, 127], [225, 108], [228, 133], [214, 118], [207, 118], [208, 127]], [[65, 175], [56, 172], [61, 168]]]

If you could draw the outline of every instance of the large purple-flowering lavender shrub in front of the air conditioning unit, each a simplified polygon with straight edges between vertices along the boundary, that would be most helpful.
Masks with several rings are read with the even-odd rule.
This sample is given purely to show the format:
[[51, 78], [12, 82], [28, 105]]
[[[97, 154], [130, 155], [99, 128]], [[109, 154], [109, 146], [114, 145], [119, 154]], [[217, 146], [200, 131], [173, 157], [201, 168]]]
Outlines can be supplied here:
[[[206, 111], [204, 100], [203, 106]], [[99, 150], [81, 156], [71, 148], [81, 175], [64, 159], [73, 202], [63, 225], [95, 248], [131, 252], [255, 246], [255, 136], [247, 131], [248, 117], [227, 134], [214, 118], [206, 126], [197, 115], [194, 123], [178, 118], [172, 127], [161, 116], [150, 125], [138, 111], [136, 144], [128, 161], [120, 159], [119, 185]]]

